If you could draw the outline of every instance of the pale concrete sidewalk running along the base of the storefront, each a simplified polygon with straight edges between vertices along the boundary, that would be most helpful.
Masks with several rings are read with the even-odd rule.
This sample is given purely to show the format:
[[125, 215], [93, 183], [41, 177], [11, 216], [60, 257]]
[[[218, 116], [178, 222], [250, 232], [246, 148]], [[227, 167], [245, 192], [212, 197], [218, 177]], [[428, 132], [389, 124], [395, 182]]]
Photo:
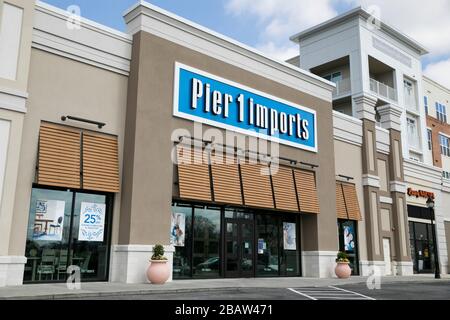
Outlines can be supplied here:
[[[317, 278], [251, 278], [251, 279], [211, 279], [211, 280], [177, 280], [162, 286], [152, 284], [123, 283], [82, 283], [81, 290], [69, 290], [65, 283], [60, 284], [30, 284], [19, 287], [0, 288], [0, 300], [15, 299], [70, 299], [108, 297], [118, 295], [141, 295], [157, 293], [214, 291], [219, 289], [238, 290], [240, 288], [300, 288], [327, 287], [355, 283], [365, 283], [367, 277], [351, 277], [350, 279], [317, 279]], [[450, 277], [444, 276], [436, 280], [431, 275], [410, 277], [382, 277], [383, 283], [395, 282], [428, 282], [443, 281], [450, 286]]]

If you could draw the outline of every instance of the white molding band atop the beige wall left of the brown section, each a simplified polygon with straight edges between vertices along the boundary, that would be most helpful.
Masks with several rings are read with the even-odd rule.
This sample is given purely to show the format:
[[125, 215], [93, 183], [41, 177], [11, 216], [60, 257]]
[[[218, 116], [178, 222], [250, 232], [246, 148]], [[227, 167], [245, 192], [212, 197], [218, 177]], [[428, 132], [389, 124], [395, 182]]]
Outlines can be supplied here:
[[132, 37], [80, 18], [68, 28], [70, 13], [38, 1], [33, 29], [33, 48], [128, 76]]

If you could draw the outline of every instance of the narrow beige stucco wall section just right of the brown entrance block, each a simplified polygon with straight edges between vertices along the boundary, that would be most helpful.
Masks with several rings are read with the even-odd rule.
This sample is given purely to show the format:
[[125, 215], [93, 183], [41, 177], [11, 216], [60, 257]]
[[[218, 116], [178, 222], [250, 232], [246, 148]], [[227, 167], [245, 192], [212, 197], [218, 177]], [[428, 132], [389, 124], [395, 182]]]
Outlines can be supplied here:
[[334, 160], [336, 167], [336, 175], [344, 175], [353, 177], [352, 183], [356, 185], [356, 193], [358, 195], [359, 207], [361, 210], [362, 221], [358, 222], [358, 245], [359, 259], [367, 260], [367, 240], [365, 227], [364, 212], [364, 192], [362, 186], [362, 152], [361, 147], [334, 140]]

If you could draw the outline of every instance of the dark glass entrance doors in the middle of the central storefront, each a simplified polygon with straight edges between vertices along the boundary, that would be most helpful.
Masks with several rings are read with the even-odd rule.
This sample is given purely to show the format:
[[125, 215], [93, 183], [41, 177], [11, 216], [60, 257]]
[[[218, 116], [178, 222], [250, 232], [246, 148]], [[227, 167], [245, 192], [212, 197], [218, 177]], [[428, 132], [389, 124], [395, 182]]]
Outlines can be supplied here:
[[253, 214], [225, 212], [225, 277], [254, 276]]

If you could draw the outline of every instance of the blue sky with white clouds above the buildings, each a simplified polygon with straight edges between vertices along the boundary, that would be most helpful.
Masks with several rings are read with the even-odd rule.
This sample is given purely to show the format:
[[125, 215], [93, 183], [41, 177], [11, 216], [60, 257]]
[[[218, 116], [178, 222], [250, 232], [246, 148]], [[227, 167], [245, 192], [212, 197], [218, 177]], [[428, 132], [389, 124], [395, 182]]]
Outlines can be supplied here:
[[[138, 0], [44, 0], [121, 31], [123, 12]], [[450, 87], [450, 1], [433, 0], [149, 0], [152, 4], [255, 47], [279, 59], [297, 54], [288, 38], [358, 5], [376, 5], [381, 19], [432, 51], [425, 74]], [[429, 14], [425, 11], [429, 11]], [[417, 16], [417, 19], [415, 19]], [[426, 19], [424, 19], [426, 17]], [[411, 24], [411, 21], [415, 21]], [[444, 44], [444, 45], [442, 45]], [[444, 68], [445, 72], [441, 72]], [[443, 75], [446, 73], [448, 75]]]

